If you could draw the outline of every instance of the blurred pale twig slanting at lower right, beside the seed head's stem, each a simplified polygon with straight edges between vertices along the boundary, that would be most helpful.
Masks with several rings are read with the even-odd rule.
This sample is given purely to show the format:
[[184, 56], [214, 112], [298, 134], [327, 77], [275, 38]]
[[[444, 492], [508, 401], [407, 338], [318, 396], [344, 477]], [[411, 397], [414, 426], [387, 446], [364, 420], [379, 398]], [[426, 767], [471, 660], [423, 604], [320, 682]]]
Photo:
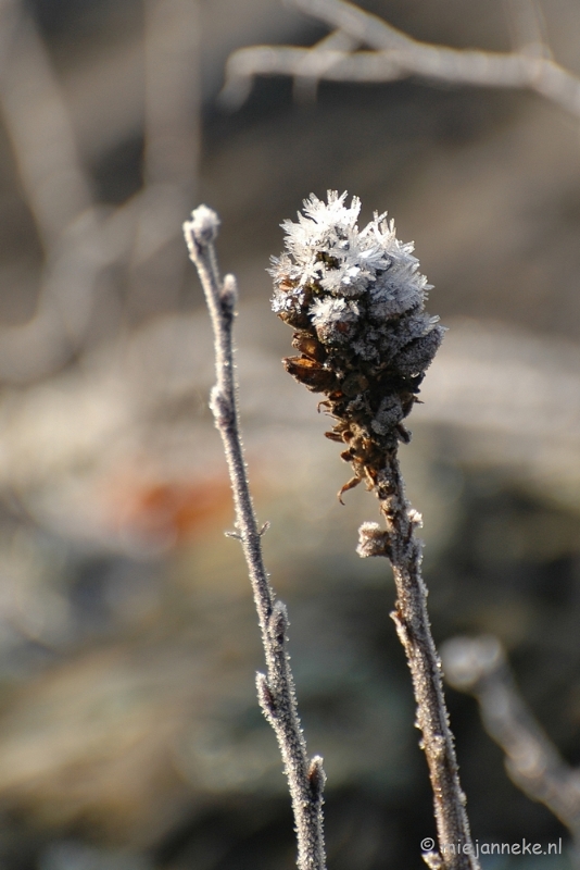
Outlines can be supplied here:
[[514, 783], [544, 804], [580, 849], [580, 771], [570, 768], [535, 721], [495, 637], [455, 637], [441, 650], [446, 680], [479, 701], [488, 734], [505, 753]]

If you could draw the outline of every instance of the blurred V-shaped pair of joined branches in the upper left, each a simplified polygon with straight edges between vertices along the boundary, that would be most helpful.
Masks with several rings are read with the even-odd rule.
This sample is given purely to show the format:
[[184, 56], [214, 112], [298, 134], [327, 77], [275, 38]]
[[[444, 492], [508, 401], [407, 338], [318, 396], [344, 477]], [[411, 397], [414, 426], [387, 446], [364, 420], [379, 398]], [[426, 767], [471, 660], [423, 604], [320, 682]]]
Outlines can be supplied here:
[[[18, 0], [0, 7], [0, 111], [26, 202], [45, 249], [38, 302], [25, 324], [0, 327], [0, 377], [48, 374], [84, 346], [106, 270], [150, 260], [177, 227], [194, 187], [200, 148], [198, 3], [148, 0], [144, 187], [116, 211], [94, 203], [70, 113], [34, 18]], [[185, 258], [163, 262], [165, 293]], [[171, 273], [171, 274], [169, 274]], [[118, 311], [103, 312], [109, 320]]]

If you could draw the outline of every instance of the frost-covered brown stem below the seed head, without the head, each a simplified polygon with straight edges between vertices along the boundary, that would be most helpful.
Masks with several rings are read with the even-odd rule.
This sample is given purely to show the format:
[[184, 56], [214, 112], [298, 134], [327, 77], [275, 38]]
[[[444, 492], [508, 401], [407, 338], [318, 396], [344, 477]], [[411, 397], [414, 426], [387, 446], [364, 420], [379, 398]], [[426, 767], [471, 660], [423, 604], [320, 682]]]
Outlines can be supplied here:
[[365, 523], [361, 529], [358, 552], [361, 556], [387, 556], [393, 568], [396, 602], [391, 616], [413, 679], [416, 724], [423, 734], [421, 748], [429, 767], [439, 840], [439, 854], [424, 857], [431, 868], [475, 870], [478, 863], [459, 784], [441, 662], [427, 612], [427, 588], [421, 576], [423, 545], [415, 535], [420, 517], [405, 498], [395, 449], [377, 475], [375, 493], [387, 521], [387, 532], [380, 532], [374, 523]]

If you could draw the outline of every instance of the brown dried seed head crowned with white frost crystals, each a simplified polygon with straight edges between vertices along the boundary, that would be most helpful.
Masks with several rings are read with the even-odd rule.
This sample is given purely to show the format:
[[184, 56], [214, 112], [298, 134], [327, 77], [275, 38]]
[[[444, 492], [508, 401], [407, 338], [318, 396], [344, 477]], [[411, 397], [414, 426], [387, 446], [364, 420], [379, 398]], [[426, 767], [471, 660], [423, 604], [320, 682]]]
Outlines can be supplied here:
[[273, 258], [273, 309], [294, 328], [300, 356], [283, 360], [308, 389], [326, 394], [336, 423], [327, 436], [371, 488], [386, 455], [407, 442], [403, 420], [433, 359], [443, 327], [425, 311], [430, 285], [413, 245], [386, 214], [358, 229], [361, 201], [314, 194], [299, 221], [285, 221], [286, 252]]

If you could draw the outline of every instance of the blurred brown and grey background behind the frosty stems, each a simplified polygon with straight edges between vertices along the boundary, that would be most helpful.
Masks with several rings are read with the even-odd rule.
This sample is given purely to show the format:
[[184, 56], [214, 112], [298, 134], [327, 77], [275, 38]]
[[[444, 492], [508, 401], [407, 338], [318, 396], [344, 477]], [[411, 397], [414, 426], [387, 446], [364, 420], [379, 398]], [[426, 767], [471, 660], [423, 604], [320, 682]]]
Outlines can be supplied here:
[[[501, 0], [365, 0], [411, 35], [508, 50]], [[580, 75], [580, 5], [543, 0]], [[311, 191], [389, 210], [450, 332], [402, 448], [438, 644], [505, 645], [580, 763], [580, 137], [514, 91], [260, 79], [225, 61], [325, 28], [278, 0], [0, 4], [0, 866], [290, 870], [256, 618], [207, 409], [209, 321], [181, 222], [216, 209], [241, 293], [240, 403], [266, 559], [288, 604], [333, 870], [423, 867], [434, 833], [388, 566], [355, 555], [364, 492], [280, 357], [265, 272]], [[568, 834], [447, 691], [474, 836]], [[570, 866], [566, 854], [487, 867]]]

